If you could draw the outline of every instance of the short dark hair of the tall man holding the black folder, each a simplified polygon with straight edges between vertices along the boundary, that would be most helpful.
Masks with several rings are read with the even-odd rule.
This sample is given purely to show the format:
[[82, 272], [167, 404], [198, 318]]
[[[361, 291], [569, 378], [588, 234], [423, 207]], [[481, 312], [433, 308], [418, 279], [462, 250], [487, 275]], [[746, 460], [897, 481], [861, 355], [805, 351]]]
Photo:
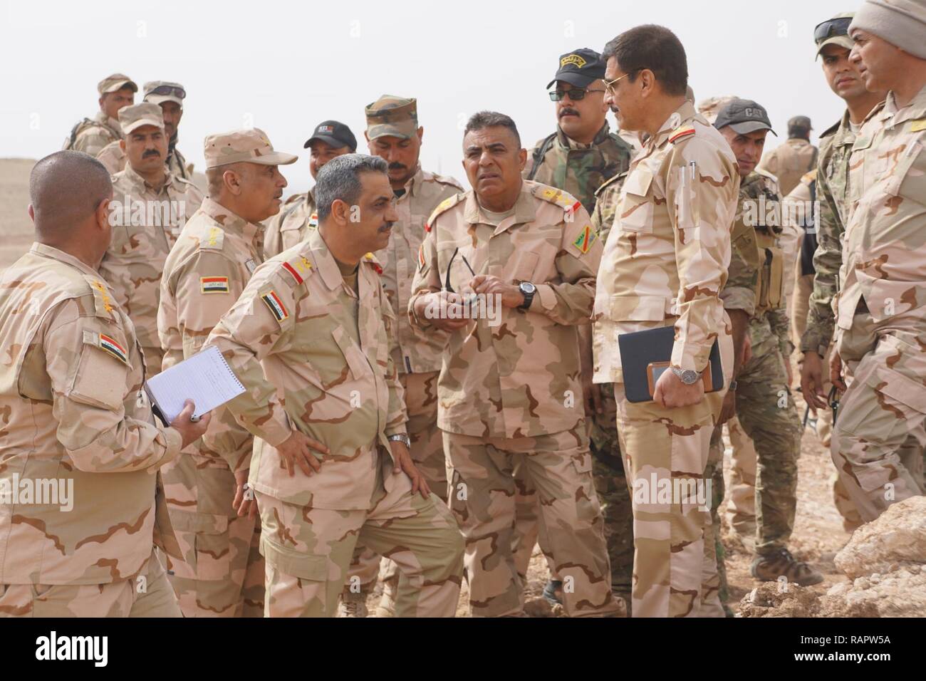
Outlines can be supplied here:
[[644, 24], [622, 32], [602, 50], [602, 59], [607, 62], [610, 57], [618, 60], [620, 70], [629, 74], [630, 82], [636, 80], [638, 71], [649, 69], [667, 95], [684, 95], [688, 88], [685, 48], [665, 26]]

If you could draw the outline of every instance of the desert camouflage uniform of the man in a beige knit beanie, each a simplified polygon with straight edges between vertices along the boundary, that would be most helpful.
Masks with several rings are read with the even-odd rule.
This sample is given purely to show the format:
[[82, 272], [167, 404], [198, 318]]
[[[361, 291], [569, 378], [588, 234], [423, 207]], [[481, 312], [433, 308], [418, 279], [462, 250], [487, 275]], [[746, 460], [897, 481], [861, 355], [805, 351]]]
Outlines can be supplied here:
[[926, 88], [884, 107], [849, 158], [834, 344], [851, 377], [833, 426], [832, 460], [866, 522], [922, 494], [926, 443]]

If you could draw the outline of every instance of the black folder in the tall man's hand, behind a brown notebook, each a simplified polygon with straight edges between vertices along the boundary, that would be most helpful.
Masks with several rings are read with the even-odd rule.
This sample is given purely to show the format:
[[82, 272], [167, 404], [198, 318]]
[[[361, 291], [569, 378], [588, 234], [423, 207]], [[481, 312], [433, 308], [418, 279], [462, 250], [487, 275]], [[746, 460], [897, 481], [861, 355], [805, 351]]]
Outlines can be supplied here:
[[[632, 334], [618, 336], [620, 350], [620, 366], [624, 374], [624, 394], [629, 402], [651, 402], [653, 394], [650, 392], [647, 367], [658, 362], [669, 362], [672, 359], [672, 346], [675, 344], [675, 327], [661, 326], [658, 329], [647, 329]], [[714, 341], [710, 348], [707, 368], [710, 388], [705, 392], [712, 393], [723, 387], [723, 367], [720, 365], [720, 346]], [[708, 385], [708, 382], [705, 382]]]

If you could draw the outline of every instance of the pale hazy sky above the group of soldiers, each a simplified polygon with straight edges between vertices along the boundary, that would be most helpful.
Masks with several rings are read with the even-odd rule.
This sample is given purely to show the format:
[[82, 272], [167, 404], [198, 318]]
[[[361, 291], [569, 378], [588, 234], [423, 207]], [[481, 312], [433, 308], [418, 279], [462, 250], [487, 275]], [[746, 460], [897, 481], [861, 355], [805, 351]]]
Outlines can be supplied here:
[[423, 167], [462, 181], [470, 114], [507, 113], [530, 148], [556, 125], [544, 86], [559, 55], [600, 51], [642, 23], [678, 34], [698, 101], [740, 95], [766, 107], [781, 135], [770, 135], [772, 148], [791, 116], [809, 116], [816, 140], [842, 115], [814, 61], [812, 34], [860, 4], [0, 0], [0, 157], [59, 149], [73, 124], [98, 110], [96, 83], [119, 71], [139, 86], [186, 87], [179, 147], [196, 170], [204, 168], [206, 134], [256, 126], [276, 148], [299, 155], [282, 170], [290, 190], [303, 190], [310, 178], [302, 145], [314, 126], [342, 120], [366, 151], [363, 109], [392, 94], [418, 98]]

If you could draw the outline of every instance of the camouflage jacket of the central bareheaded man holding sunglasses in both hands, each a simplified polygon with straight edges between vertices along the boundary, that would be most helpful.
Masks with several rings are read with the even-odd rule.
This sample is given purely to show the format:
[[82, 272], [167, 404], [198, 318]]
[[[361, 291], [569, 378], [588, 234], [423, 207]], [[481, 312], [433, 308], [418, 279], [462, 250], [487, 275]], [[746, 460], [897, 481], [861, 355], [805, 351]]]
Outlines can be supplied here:
[[499, 305], [497, 326], [481, 315], [449, 334], [437, 385], [437, 425], [448, 433], [552, 435], [584, 419], [576, 327], [592, 312], [601, 240], [582, 204], [554, 187], [523, 181], [514, 208], [495, 226], [472, 191], [457, 195], [434, 212], [421, 245], [408, 306], [421, 328], [431, 322], [415, 315], [415, 300], [448, 283], [466, 293], [469, 267], [537, 287], [526, 312]]

